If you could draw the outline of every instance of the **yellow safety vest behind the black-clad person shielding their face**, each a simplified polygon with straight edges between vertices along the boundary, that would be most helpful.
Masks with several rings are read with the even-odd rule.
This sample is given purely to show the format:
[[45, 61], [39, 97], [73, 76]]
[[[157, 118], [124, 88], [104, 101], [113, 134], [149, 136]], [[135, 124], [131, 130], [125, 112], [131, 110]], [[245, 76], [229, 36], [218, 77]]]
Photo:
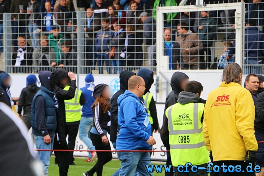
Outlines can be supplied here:
[[[70, 86], [66, 86], [64, 90], [69, 90]], [[65, 112], [66, 112], [66, 122], [76, 122], [81, 120], [81, 105], [80, 97], [82, 91], [79, 89], [75, 90], [75, 96], [71, 100], [64, 100], [65, 102]]]

